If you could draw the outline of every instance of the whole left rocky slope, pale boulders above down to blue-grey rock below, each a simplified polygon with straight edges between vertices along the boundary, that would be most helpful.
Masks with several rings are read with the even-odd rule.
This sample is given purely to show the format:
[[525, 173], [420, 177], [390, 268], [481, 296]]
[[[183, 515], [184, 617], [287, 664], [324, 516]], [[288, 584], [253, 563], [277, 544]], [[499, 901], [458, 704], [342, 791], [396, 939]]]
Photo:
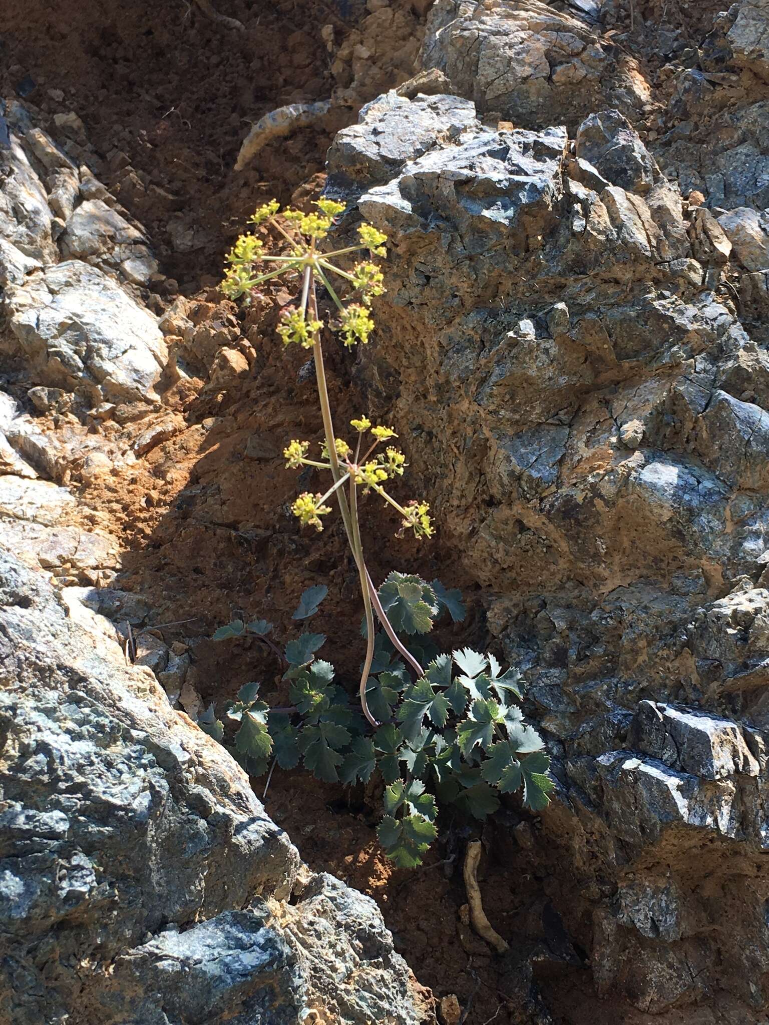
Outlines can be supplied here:
[[186, 646], [107, 586], [119, 544], [78, 491], [178, 429], [186, 375], [147, 238], [87, 154], [18, 102], [2, 126], [0, 348], [31, 411], [0, 395], [0, 1021], [432, 1021], [373, 901], [302, 865], [172, 707]]

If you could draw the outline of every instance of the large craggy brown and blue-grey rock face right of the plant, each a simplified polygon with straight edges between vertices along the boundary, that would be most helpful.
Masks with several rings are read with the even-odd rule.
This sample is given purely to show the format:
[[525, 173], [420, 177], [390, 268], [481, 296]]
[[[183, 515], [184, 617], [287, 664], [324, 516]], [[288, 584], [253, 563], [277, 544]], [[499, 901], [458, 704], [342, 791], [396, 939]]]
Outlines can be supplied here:
[[[562, 98], [533, 10], [438, 0], [424, 49], [479, 117], [525, 127], [391, 93], [337, 136], [330, 190], [392, 241], [359, 374], [528, 682], [560, 786], [532, 856], [598, 993], [634, 1022], [758, 1022], [769, 339], [725, 283], [760, 308], [769, 151], [754, 136], [739, 184], [731, 151], [700, 153], [733, 199], [686, 203], [683, 149], [652, 155], [606, 105], [590, 28], [568, 67], [597, 65]], [[444, 134], [440, 105], [463, 115]], [[734, 146], [758, 130], [719, 118]]]

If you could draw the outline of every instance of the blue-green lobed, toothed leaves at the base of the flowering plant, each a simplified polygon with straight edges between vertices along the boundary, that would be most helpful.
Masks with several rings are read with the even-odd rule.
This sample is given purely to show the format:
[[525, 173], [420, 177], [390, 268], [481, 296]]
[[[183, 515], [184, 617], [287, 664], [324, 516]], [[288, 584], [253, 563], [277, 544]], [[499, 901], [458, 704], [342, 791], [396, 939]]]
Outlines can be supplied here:
[[[317, 611], [325, 597], [320, 589], [302, 594], [297, 609], [302, 615], [294, 618]], [[427, 633], [443, 612], [454, 622], [464, 616], [459, 591], [437, 580], [428, 584], [391, 573], [379, 598], [402, 634]], [[257, 631], [235, 620], [214, 638], [246, 632]], [[334, 683], [333, 666], [316, 657], [325, 640], [307, 632], [286, 645], [289, 708], [271, 709], [258, 699], [258, 684], [246, 684], [226, 706], [226, 722], [237, 728], [231, 749], [249, 773], [266, 772], [273, 758], [284, 769], [301, 763], [330, 783], [368, 783], [378, 773], [386, 790], [377, 836], [402, 867], [420, 863], [437, 835], [441, 805], [484, 819], [499, 807], [498, 794], [522, 790], [532, 811], [547, 806], [553, 790], [550, 760], [541, 738], [523, 720], [517, 670], [502, 670], [491, 654], [469, 648], [439, 654], [422, 642], [419, 653], [431, 657], [421, 679], [412, 680], [390, 641], [377, 634], [366, 692], [369, 710], [380, 723], [372, 733], [358, 705]], [[414, 650], [410, 642], [409, 649]], [[199, 725], [221, 741], [232, 732], [226, 722], [215, 717], [211, 705]]]

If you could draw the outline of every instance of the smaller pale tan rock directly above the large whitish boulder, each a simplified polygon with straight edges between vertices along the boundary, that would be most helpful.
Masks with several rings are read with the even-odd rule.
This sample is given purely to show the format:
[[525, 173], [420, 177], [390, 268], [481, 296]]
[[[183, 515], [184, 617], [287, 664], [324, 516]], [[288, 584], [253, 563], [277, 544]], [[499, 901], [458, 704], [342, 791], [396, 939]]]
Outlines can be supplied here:
[[98, 199], [70, 215], [59, 246], [66, 257], [119, 271], [134, 284], [147, 284], [158, 270], [145, 236]]

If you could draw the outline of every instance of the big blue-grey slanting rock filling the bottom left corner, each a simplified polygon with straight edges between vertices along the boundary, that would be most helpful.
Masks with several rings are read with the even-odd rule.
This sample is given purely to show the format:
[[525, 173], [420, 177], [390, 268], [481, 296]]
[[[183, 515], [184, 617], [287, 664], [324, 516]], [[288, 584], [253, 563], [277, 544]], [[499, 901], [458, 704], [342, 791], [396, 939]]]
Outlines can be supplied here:
[[430, 1020], [373, 901], [302, 868], [109, 621], [5, 548], [0, 737], [3, 1023]]

